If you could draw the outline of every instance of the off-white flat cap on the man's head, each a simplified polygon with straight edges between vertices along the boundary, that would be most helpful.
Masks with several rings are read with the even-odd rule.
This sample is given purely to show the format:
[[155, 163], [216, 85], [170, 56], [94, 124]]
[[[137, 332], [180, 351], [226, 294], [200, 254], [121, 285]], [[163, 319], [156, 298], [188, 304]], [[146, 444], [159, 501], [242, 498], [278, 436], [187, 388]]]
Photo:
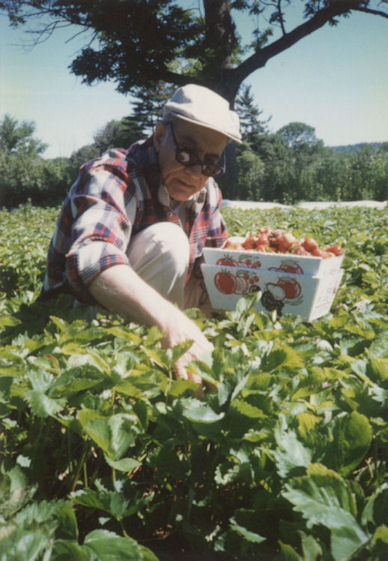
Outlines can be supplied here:
[[176, 115], [241, 142], [237, 113], [231, 111], [226, 99], [203, 86], [187, 84], [179, 88], [164, 106], [163, 116], [166, 115]]

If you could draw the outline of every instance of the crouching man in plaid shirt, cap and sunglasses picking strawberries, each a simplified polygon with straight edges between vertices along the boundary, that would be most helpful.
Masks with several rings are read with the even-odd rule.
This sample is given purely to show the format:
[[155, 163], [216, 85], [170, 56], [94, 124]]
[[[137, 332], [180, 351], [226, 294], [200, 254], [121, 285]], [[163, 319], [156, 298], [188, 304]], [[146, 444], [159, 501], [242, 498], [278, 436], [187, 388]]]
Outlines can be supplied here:
[[178, 377], [212, 344], [182, 311], [206, 294], [198, 278], [204, 245], [227, 237], [214, 181], [239, 120], [215, 92], [189, 84], [167, 101], [154, 134], [88, 162], [58, 217], [41, 299], [70, 292], [165, 333], [168, 347], [191, 340]]

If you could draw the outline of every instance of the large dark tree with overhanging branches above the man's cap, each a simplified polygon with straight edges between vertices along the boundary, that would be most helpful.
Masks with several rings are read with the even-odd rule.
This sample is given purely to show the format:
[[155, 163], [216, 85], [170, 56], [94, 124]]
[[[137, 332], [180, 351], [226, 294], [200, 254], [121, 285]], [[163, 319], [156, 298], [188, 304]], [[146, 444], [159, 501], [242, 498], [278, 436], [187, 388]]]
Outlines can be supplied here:
[[[13, 25], [35, 18], [37, 41], [65, 25], [88, 31], [87, 44], [71, 65], [87, 84], [113, 80], [118, 91], [127, 93], [158, 82], [175, 86], [195, 82], [218, 91], [232, 104], [250, 74], [324, 25], [336, 25], [352, 12], [388, 18], [379, 0], [308, 0], [300, 22], [288, 29], [290, 0], [202, 0], [190, 3], [191, 8], [181, 4], [1, 0], [0, 11], [8, 13]], [[248, 44], [238, 32], [236, 16], [242, 13], [255, 24]]]

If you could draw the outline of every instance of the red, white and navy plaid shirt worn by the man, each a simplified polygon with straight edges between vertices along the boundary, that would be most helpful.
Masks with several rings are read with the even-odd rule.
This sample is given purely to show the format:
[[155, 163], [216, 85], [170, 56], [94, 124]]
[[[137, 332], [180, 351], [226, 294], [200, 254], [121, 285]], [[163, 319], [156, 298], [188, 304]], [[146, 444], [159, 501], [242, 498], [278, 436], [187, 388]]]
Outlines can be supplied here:
[[81, 302], [95, 303], [88, 291], [90, 282], [104, 269], [128, 264], [131, 236], [166, 220], [181, 225], [189, 238], [189, 278], [203, 247], [219, 247], [227, 237], [219, 212], [221, 191], [209, 178], [197, 197], [186, 203], [182, 223], [161, 202], [159, 189], [152, 137], [84, 164], [57, 219], [40, 298], [69, 292]]

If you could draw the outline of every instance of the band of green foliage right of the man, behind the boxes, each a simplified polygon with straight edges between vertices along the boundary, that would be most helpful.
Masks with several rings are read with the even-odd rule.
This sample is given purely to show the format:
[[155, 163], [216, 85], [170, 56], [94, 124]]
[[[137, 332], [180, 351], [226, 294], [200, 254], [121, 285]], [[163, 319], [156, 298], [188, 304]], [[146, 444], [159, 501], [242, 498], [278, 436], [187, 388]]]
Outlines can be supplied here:
[[287, 142], [283, 134], [263, 134], [255, 144], [239, 146], [237, 184], [226, 184], [225, 198], [285, 204], [387, 199], [388, 153], [383, 146], [336, 152], [318, 140]]

